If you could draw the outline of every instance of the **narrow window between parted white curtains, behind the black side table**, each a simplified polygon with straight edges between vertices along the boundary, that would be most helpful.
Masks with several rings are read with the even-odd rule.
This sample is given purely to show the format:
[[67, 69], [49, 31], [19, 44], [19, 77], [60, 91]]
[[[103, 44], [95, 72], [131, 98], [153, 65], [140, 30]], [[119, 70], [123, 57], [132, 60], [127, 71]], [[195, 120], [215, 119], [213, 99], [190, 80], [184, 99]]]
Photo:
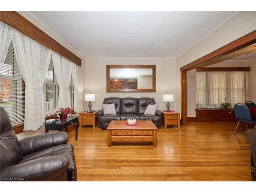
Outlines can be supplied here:
[[46, 73], [44, 84], [45, 95], [45, 114], [50, 115], [57, 111], [58, 105], [58, 83], [54, 75], [52, 58], [50, 60], [49, 69]]

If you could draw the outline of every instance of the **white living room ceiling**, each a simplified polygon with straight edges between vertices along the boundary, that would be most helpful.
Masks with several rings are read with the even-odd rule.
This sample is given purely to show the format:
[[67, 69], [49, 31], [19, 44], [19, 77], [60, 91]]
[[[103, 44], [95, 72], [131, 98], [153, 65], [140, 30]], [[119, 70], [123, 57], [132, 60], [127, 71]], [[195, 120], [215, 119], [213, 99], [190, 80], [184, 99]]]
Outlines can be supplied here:
[[85, 58], [177, 57], [234, 11], [31, 11]]

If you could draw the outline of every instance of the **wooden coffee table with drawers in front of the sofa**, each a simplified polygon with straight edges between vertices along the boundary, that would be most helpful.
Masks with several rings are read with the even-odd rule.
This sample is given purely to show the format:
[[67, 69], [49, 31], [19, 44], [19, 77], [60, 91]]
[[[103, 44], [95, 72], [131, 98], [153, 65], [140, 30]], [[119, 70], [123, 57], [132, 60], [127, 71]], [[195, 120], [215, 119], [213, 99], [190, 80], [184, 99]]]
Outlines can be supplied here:
[[111, 143], [153, 143], [157, 146], [157, 127], [152, 121], [138, 120], [136, 126], [125, 125], [126, 120], [113, 120], [108, 130], [108, 146]]

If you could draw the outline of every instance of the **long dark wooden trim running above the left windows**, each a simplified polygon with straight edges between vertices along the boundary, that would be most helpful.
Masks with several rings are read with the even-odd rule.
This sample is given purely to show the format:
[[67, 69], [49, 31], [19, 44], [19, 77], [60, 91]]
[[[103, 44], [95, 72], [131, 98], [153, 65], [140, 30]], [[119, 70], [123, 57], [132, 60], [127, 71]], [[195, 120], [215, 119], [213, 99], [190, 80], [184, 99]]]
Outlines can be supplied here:
[[81, 59], [16, 11], [0, 11], [1, 22], [24, 33], [39, 44], [81, 66]]

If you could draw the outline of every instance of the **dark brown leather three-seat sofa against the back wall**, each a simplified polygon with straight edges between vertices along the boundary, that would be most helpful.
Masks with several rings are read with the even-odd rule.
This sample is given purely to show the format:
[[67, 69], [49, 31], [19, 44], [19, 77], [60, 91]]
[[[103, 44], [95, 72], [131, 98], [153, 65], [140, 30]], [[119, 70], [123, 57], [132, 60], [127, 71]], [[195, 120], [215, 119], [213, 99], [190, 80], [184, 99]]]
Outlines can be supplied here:
[[127, 120], [128, 118], [151, 120], [157, 127], [161, 127], [161, 111], [157, 110], [155, 115], [144, 115], [147, 105], [156, 104], [154, 98], [109, 97], [103, 100], [103, 104], [111, 103], [115, 103], [116, 115], [104, 115], [103, 110], [97, 112], [98, 125], [103, 130], [106, 130], [112, 120]]

